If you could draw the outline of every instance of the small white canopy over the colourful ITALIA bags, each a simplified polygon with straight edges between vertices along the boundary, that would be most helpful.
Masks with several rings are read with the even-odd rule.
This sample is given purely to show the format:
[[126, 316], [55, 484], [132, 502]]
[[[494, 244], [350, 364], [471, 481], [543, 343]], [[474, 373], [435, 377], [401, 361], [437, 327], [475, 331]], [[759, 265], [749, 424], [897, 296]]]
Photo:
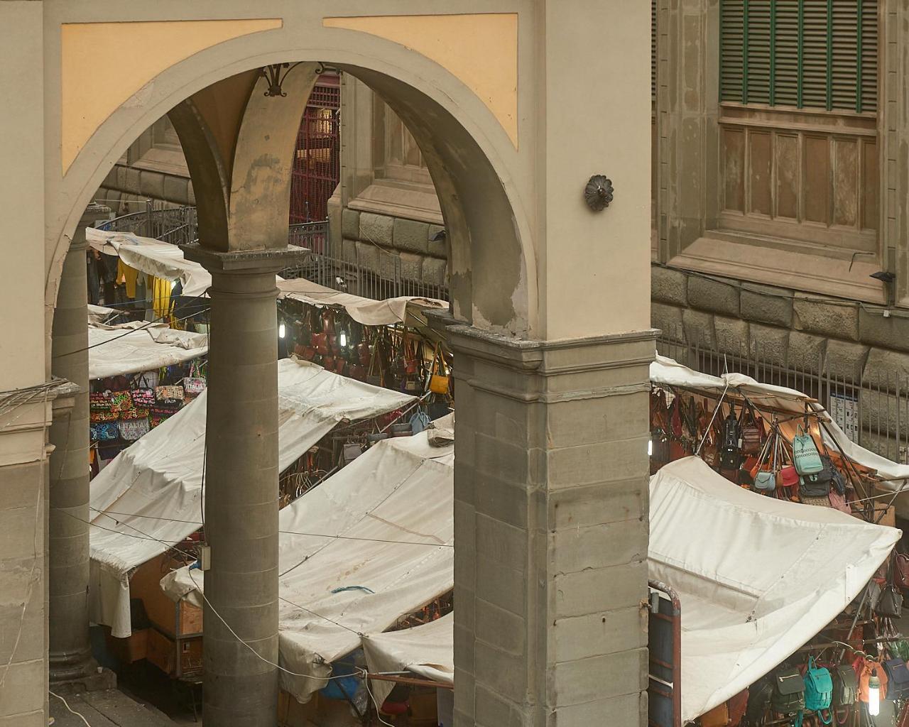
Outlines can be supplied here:
[[88, 324], [88, 378], [153, 371], [208, 353], [208, 336], [167, 324]]

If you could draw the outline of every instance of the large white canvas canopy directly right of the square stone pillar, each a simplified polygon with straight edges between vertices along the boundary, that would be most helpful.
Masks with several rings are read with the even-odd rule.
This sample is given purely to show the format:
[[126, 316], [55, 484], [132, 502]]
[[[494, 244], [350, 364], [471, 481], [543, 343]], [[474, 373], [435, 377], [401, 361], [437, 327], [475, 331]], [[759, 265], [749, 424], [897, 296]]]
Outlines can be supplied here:
[[698, 457], [650, 481], [650, 578], [682, 604], [682, 719], [757, 681], [820, 632], [900, 531], [764, 497]]

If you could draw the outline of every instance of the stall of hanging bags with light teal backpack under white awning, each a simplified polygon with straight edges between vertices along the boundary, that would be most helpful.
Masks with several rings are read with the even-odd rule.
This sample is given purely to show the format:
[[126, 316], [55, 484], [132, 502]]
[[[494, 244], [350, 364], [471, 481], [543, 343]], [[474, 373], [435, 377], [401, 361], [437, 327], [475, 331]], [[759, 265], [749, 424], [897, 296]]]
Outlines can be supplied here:
[[850, 442], [807, 394], [741, 373], [709, 376], [663, 356], [651, 381], [652, 473], [696, 454], [755, 492], [894, 524], [909, 467]]

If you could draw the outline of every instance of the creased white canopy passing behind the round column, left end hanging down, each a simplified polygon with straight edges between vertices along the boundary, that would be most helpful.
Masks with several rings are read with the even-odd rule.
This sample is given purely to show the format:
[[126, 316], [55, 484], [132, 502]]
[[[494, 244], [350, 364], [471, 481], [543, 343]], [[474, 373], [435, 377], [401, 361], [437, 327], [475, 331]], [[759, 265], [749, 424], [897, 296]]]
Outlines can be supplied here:
[[[278, 446], [285, 470], [343, 420], [368, 419], [414, 401], [329, 373], [278, 362]], [[118, 454], [91, 483], [92, 619], [130, 634], [129, 573], [201, 526], [205, 401], [202, 393]], [[346, 470], [345, 470], [346, 471]], [[321, 488], [319, 488], [321, 489]], [[325, 532], [321, 530], [319, 532]]]

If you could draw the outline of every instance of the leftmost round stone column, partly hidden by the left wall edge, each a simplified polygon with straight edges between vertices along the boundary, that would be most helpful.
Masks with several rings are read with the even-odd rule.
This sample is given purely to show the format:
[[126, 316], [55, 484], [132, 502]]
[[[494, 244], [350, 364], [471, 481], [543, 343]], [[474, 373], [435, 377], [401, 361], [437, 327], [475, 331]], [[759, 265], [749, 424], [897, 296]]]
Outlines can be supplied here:
[[66, 254], [52, 332], [51, 371], [78, 388], [72, 410], [50, 428], [48, 623], [51, 682], [94, 672], [88, 640], [88, 288], [85, 227], [109, 213], [91, 204]]

